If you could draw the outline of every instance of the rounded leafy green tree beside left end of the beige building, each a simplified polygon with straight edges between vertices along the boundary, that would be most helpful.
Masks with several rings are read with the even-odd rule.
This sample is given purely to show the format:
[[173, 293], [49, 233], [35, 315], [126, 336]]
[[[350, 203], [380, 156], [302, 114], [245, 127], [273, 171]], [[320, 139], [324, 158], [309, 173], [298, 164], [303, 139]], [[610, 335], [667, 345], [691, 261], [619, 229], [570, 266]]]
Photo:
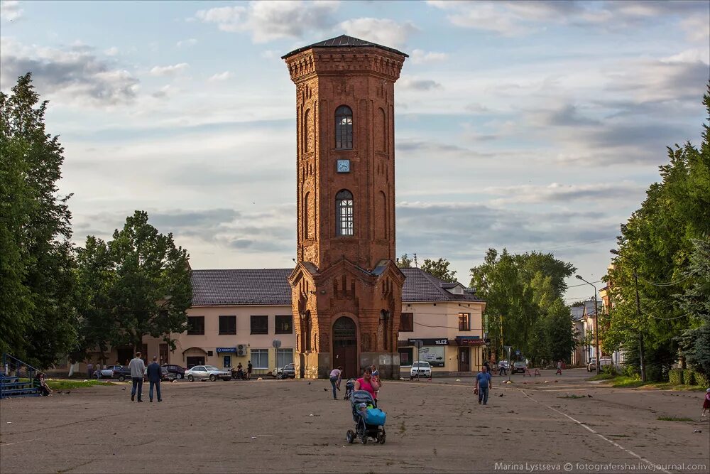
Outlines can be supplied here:
[[188, 255], [175, 247], [173, 235], [163, 235], [148, 223], [148, 214], [136, 211], [122, 230], [104, 244], [87, 238], [80, 252], [84, 347], [132, 345], [140, 348], [143, 336], [162, 337], [173, 350], [170, 333], [187, 330], [187, 308], [192, 303]]

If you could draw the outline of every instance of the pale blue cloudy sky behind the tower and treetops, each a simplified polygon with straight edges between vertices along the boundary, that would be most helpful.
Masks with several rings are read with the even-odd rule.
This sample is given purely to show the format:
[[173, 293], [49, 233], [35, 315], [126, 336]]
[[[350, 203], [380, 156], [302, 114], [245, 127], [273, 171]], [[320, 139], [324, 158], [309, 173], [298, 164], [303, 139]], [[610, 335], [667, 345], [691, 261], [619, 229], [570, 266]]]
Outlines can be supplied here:
[[[699, 145], [707, 118], [707, 1], [1, 1], [0, 30], [0, 89], [31, 71], [50, 100], [75, 242], [146, 210], [195, 269], [293, 266], [280, 56], [303, 45], [408, 53], [397, 254], [448, 259], [464, 284], [491, 247], [601, 280], [666, 146]], [[568, 303], [594, 293], [568, 283]]]

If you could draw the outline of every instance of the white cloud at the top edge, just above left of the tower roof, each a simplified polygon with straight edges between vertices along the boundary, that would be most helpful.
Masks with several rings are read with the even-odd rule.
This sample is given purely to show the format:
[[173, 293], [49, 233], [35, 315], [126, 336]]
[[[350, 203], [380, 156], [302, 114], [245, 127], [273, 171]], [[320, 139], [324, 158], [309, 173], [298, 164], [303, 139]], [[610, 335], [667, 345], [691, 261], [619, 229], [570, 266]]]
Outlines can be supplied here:
[[332, 28], [335, 1], [252, 1], [249, 6], [200, 10], [196, 18], [215, 23], [222, 31], [248, 31], [255, 43], [280, 38], [302, 38], [312, 31]]

